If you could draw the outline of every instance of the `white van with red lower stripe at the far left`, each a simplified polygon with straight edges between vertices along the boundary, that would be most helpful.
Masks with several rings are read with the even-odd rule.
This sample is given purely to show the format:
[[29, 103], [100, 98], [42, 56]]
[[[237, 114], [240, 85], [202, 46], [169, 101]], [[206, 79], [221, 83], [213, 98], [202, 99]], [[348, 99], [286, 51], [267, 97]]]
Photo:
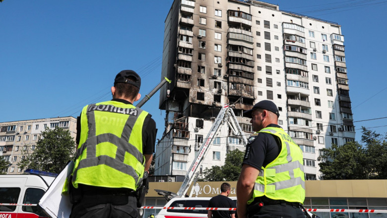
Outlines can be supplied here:
[[44, 175], [0, 175], [0, 218], [47, 217], [38, 206], [1, 204], [38, 204], [55, 177]]

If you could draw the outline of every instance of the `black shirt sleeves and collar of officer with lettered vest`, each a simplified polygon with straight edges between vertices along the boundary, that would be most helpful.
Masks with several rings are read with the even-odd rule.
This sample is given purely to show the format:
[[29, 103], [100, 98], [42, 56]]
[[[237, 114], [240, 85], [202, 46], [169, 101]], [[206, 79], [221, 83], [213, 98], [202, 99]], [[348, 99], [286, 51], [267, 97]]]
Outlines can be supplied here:
[[[124, 104], [131, 105], [130, 102], [124, 100], [124, 99], [112, 99], [111, 101], [121, 102]], [[142, 127], [142, 154], [144, 155], [151, 155], [154, 153], [154, 143], [156, 141], [156, 122], [151, 118], [152, 115], [148, 114], [146, 115], [144, 119], [144, 124]], [[80, 116], [77, 117], [76, 122], [76, 144], [79, 144], [80, 139], [80, 131], [81, 131], [81, 124], [80, 124]]]

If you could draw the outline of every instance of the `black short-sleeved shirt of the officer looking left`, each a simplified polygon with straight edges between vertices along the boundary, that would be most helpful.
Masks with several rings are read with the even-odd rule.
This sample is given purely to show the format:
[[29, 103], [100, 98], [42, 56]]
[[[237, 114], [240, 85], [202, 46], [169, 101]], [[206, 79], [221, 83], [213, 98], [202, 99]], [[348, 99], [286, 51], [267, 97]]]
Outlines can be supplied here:
[[[266, 127], [281, 128], [276, 124], [269, 124]], [[281, 144], [276, 138], [276, 136], [265, 132], [260, 132], [258, 135], [253, 134], [248, 140], [242, 164], [248, 164], [261, 170], [262, 166], [265, 167], [274, 161], [281, 151]]]

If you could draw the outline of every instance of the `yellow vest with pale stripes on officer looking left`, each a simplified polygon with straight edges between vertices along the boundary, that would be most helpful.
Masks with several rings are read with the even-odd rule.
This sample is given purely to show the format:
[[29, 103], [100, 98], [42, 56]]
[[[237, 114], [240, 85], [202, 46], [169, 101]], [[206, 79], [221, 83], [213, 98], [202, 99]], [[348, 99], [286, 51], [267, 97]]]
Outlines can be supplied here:
[[[305, 177], [300, 147], [281, 128], [266, 127], [259, 132], [272, 134], [281, 141], [277, 158], [261, 167], [254, 185], [253, 198], [266, 196], [274, 200], [303, 203], [305, 200]], [[258, 133], [259, 133], [258, 132]]]

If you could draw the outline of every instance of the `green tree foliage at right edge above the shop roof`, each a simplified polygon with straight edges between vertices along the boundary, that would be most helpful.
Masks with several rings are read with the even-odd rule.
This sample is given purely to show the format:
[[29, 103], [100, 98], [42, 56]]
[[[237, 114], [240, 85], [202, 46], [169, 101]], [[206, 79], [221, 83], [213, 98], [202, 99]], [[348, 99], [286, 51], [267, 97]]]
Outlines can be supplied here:
[[362, 127], [363, 144], [349, 142], [322, 149], [323, 179], [387, 179], [386, 137]]

